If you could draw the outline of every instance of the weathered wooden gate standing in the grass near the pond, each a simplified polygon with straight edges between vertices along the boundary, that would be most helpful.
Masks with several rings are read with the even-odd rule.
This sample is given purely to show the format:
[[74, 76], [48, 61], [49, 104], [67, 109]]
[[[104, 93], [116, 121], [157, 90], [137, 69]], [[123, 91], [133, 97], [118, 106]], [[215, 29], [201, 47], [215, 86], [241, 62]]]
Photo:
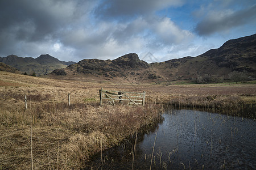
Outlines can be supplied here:
[[110, 90], [99, 90], [100, 92], [100, 105], [103, 105], [103, 100], [106, 100], [107, 104], [115, 105], [115, 100], [119, 104], [127, 105], [145, 105], [146, 92], [125, 92], [125, 91], [110, 91]]

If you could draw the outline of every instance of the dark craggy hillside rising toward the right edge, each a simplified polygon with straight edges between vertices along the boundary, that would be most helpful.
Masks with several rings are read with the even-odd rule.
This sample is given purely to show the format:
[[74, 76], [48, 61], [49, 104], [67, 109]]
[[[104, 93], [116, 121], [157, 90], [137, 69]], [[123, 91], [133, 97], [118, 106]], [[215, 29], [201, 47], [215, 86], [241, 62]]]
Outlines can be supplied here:
[[191, 79], [205, 74], [226, 78], [232, 71], [246, 71], [255, 77], [256, 34], [226, 41], [220, 48], [197, 57], [171, 59], [150, 66], [167, 80]]

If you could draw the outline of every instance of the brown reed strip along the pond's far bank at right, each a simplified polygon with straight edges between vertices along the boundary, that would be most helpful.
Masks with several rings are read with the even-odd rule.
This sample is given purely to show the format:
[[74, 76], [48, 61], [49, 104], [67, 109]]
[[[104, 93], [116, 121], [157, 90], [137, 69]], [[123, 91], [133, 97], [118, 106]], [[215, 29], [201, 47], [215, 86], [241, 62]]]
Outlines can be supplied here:
[[177, 96], [168, 101], [176, 109], [198, 109], [200, 111], [256, 118], [255, 103], [246, 103], [240, 96]]

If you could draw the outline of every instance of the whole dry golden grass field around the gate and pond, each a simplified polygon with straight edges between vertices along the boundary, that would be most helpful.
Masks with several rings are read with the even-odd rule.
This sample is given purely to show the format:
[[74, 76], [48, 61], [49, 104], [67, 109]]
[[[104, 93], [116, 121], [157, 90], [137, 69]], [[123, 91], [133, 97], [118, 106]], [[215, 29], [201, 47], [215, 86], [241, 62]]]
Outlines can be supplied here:
[[[146, 91], [146, 106], [100, 107], [101, 87]], [[228, 113], [248, 105], [255, 109], [256, 84], [102, 83], [0, 71], [0, 96], [0, 169], [31, 169], [32, 163], [34, 169], [79, 169], [101, 150], [101, 143], [103, 150], [118, 145], [154, 123], [162, 104]], [[255, 111], [250, 114], [255, 118]]]

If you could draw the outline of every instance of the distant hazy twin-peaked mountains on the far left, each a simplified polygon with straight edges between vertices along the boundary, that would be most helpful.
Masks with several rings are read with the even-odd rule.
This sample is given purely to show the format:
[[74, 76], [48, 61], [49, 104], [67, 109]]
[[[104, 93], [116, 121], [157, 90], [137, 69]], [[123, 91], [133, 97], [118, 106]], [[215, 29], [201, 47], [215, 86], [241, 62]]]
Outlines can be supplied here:
[[51, 73], [55, 69], [65, 68], [67, 63], [75, 63], [59, 61], [59, 59], [49, 56], [49, 54], [41, 55], [38, 58], [10, 55], [0, 57], [0, 62], [15, 67], [23, 73], [32, 74], [35, 72], [37, 76]]

